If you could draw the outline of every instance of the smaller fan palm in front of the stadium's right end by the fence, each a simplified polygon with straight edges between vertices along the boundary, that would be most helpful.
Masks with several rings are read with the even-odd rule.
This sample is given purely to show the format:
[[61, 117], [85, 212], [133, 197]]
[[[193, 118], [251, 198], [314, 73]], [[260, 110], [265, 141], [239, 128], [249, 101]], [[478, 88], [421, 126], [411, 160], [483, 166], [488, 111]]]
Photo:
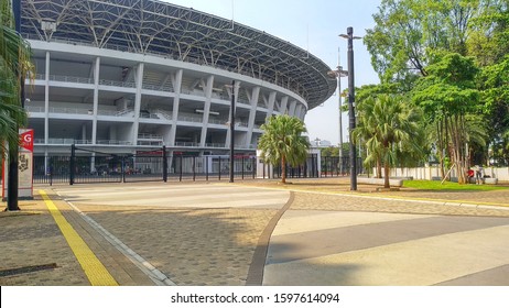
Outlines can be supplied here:
[[286, 164], [296, 167], [307, 157], [310, 143], [302, 135], [306, 132], [304, 122], [290, 116], [275, 116], [261, 125], [264, 131], [258, 142], [263, 162], [281, 164], [281, 183], [286, 183]]

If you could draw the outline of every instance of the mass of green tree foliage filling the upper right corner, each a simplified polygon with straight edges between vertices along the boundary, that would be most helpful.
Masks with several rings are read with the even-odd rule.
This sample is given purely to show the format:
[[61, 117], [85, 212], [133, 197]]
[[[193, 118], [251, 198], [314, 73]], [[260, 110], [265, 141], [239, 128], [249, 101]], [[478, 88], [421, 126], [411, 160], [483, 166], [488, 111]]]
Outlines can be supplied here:
[[365, 44], [382, 85], [359, 89], [358, 101], [411, 92], [442, 163], [466, 150], [487, 160], [489, 144], [509, 164], [509, 2], [382, 0], [373, 20]]

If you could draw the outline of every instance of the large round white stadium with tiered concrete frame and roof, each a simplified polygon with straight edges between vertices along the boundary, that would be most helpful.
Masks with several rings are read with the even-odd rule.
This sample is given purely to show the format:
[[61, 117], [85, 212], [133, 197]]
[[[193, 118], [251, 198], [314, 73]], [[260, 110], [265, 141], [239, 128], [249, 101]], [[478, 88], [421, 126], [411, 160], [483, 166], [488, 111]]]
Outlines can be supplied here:
[[[272, 114], [304, 119], [336, 89], [321, 59], [263, 31], [154, 0], [21, 0], [36, 75], [34, 154], [166, 146], [252, 155]], [[237, 87], [231, 87], [232, 80]]]

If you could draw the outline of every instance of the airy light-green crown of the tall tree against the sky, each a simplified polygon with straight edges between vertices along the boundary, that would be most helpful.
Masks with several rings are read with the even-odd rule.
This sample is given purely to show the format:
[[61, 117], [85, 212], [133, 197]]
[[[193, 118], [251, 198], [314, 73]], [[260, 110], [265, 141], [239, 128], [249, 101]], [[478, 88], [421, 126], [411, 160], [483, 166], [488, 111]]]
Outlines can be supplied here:
[[382, 0], [364, 38], [382, 82], [426, 76], [429, 51], [466, 55], [472, 22], [492, 0]]

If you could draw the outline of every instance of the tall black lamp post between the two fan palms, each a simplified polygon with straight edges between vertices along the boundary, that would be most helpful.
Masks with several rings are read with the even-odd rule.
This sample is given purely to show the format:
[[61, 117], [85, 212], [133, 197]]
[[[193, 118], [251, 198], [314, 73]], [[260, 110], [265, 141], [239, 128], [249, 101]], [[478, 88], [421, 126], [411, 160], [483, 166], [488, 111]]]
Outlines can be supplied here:
[[350, 190], [357, 190], [357, 155], [351, 132], [355, 129], [354, 40], [359, 40], [360, 37], [354, 36], [354, 28], [351, 26], [347, 28], [346, 33], [347, 34], [339, 34], [339, 36], [348, 40], [348, 133], [350, 135]]

